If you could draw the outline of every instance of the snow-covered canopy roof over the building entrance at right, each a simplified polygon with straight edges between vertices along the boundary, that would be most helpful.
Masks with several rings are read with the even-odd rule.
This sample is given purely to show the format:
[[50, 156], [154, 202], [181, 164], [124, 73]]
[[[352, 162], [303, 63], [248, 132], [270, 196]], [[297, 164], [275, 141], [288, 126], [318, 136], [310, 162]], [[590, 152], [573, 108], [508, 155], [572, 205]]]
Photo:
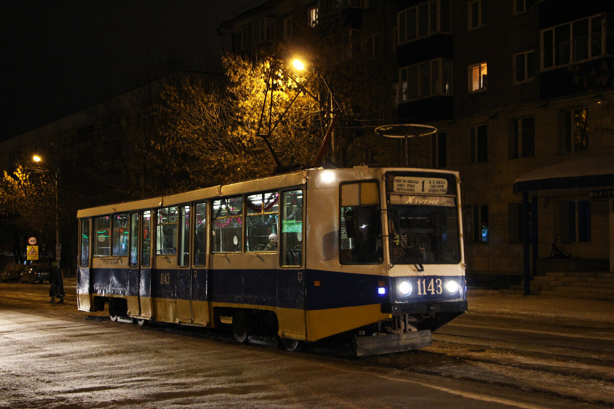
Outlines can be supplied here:
[[614, 188], [614, 153], [540, 167], [514, 180], [515, 194], [579, 188]]

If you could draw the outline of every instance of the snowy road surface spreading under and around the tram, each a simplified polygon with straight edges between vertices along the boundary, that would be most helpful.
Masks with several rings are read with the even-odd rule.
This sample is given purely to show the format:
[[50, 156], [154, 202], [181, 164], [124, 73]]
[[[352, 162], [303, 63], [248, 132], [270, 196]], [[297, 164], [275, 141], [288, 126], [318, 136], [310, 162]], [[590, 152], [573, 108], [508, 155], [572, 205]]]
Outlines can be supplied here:
[[0, 408], [614, 407], [614, 302], [475, 292], [433, 346], [359, 359], [112, 323], [48, 288], [0, 284]]

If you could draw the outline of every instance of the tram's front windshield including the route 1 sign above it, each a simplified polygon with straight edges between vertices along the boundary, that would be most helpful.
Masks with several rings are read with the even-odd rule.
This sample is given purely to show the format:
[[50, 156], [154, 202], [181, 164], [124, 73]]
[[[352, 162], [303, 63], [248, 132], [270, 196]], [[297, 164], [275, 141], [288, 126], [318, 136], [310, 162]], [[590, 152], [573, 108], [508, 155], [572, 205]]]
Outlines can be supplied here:
[[392, 264], [461, 261], [456, 181], [448, 175], [392, 175], [388, 231]]

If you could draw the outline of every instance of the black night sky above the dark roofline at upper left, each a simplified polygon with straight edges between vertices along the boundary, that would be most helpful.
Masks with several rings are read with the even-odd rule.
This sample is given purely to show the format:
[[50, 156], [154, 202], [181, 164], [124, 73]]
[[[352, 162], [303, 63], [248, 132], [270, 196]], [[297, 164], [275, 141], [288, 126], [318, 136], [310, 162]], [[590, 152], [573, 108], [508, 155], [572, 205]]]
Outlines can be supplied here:
[[255, 0], [0, 0], [0, 140], [177, 69], [211, 71], [217, 27]]

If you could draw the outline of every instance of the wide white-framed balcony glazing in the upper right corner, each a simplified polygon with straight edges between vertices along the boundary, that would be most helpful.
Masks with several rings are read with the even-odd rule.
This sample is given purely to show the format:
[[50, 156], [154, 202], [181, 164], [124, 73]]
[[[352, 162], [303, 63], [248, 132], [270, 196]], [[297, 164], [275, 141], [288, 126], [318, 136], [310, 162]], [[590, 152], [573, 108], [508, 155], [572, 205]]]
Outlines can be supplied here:
[[542, 30], [542, 69], [577, 63], [605, 53], [606, 34], [612, 34], [605, 15]]

